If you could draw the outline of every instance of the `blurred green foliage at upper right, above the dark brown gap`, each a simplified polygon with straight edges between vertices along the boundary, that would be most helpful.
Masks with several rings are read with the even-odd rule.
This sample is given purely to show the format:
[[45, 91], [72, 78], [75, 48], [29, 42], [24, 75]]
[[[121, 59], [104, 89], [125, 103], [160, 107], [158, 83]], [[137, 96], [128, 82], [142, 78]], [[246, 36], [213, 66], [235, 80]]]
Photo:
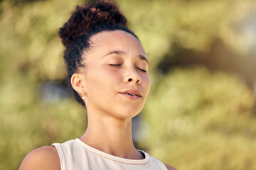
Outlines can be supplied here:
[[255, 12], [256, 1], [119, 0], [118, 4], [149, 53], [152, 69], [167, 52], [176, 51], [176, 44], [207, 52], [219, 38], [236, 52], [245, 52], [253, 36], [238, 34], [234, 25]]

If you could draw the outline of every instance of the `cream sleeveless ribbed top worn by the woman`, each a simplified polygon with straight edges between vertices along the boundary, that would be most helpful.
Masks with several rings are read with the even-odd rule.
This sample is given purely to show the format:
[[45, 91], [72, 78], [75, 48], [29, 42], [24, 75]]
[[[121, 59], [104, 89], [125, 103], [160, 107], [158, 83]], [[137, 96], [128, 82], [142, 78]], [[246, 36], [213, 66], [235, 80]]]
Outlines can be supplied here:
[[107, 154], [90, 147], [78, 138], [62, 144], [54, 143], [60, 157], [61, 170], [166, 170], [166, 166], [158, 159], [151, 157], [144, 151], [144, 159], [124, 159]]

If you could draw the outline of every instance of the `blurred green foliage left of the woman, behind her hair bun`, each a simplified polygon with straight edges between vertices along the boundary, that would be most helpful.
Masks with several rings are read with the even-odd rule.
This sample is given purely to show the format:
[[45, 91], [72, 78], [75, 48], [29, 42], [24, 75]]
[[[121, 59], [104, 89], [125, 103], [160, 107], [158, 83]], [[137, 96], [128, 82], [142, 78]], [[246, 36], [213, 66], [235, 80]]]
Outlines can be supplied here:
[[38, 96], [41, 81], [61, 79], [63, 47], [58, 28], [78, 1], [1, 3], [0, 169], [18, 169], [36, 147], [85, 131], [85, 111], [69, 99], [52, 104]]

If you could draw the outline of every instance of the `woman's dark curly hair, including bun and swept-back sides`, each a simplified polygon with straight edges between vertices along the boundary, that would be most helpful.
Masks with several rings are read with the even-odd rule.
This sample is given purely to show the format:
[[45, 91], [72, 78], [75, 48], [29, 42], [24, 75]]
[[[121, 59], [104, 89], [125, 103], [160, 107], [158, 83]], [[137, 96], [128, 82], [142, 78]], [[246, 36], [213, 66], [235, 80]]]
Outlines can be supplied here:
[[78, 68], [85, 67], [82, 64], [82, 55], [91, 47], [90, 37], [102, 31], [113, 30], [124, 30], [137, 38], [137, 35], [127, 27], [127, 19], [119, 8], [112, 1], [100, 0], [76, 6], [68, 22], [58, 32], [66, 47], [64, 60], [68, 72], [68, 87], [73, 92], [75, 100], [82, 106], [85, 106], [85, 103], [73, 89], [70, 79]]

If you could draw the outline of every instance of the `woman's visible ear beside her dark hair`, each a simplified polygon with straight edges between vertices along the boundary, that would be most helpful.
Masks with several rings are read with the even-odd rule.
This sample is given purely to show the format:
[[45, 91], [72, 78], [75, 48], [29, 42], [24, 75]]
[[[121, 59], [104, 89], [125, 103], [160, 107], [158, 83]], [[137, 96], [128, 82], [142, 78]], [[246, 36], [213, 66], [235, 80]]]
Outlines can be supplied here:
[[86, 92], [85, 80], [84, 80], [82, 74], [80, 74], [80, 73], [73, 74], [70, 81], [71, 81], [71, 84], [73, 86], [73, 89], [75, 89], [75, 91], [77, 91], [78, 94], [80, 94], [82, 91], [84, 93]]

